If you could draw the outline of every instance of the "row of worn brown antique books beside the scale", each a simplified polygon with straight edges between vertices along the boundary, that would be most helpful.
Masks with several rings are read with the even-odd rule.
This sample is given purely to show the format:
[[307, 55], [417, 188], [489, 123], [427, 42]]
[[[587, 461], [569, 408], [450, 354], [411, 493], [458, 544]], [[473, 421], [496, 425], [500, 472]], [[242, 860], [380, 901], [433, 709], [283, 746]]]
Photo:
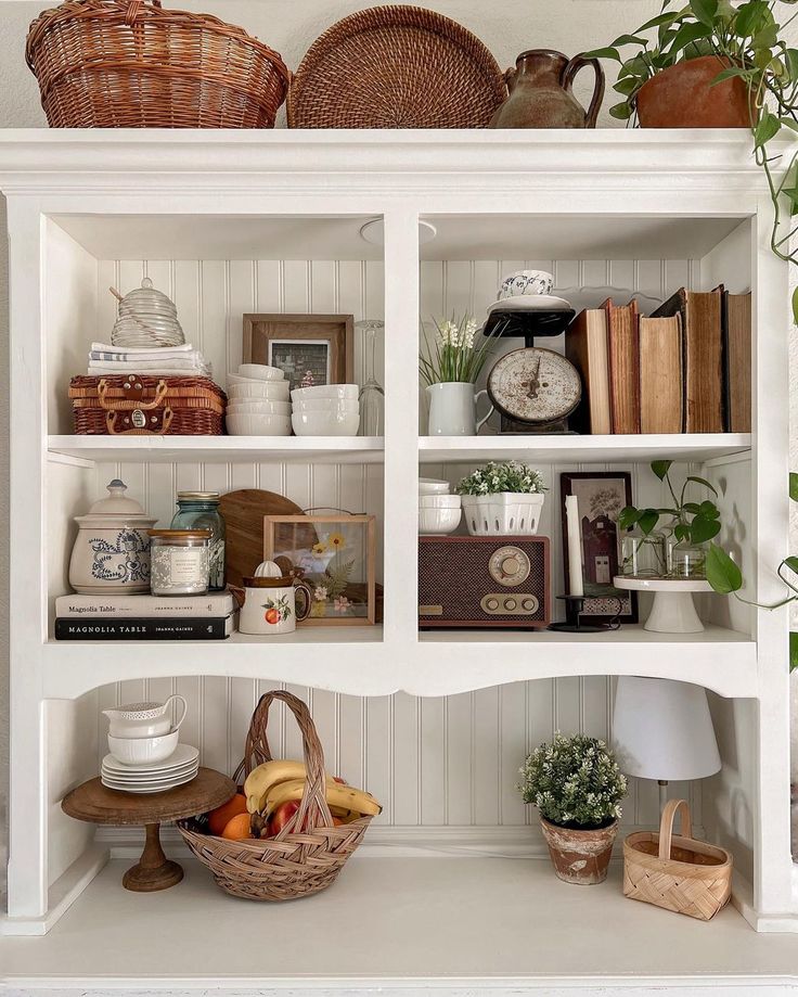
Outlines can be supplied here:
[[651, 316], [607, 299], [565, 344], [583, 382], [579, 433], [750, 432], [750, 293], [682, 287]]

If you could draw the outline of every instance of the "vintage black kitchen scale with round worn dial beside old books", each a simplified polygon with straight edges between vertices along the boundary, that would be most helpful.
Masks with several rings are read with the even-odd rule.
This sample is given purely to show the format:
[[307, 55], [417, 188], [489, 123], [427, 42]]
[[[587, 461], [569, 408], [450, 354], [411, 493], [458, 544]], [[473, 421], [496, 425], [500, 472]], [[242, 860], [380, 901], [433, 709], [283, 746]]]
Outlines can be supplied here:
[[569, 433], [568, 417], [582, 397], [576, 367], [553, 349], [535, 345], [536, 336], [565, 332], [576, 312], [493, 312], [486, 336], [523, 337], [525, 346], [505, 354], [488, 374], [488, 395], [501, 414], [502, 433]]

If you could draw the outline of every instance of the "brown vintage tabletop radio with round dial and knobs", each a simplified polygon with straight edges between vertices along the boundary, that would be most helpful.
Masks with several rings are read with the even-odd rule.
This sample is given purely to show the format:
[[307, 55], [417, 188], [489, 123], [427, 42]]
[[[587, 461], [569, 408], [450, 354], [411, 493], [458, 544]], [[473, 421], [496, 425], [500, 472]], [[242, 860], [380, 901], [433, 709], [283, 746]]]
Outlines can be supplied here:
[[542, 628], [549, 537], [419, 537], [419, 626]]

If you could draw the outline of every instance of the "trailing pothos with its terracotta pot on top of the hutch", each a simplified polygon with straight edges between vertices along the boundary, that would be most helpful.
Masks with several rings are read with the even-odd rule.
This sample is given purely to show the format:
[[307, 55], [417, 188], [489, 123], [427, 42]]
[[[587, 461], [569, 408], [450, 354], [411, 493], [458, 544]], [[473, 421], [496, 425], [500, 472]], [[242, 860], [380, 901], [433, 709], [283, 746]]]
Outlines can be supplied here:
[[[782, 2], [791, 7], [798, 0]], [[750, 129], [773, 202], [771, 248], [796, 264], [794, 231], [782, 231], [782, 219], [798, 214], [798, 152], [772, 143], [798, 132], [798, 49], [785, 41], [798, 12], [780, 24], [775, 0], [671, 4], [665, 0], [661, 12], [633, 34], [584, 53], [620, 63], [615, 89], [623, 99], [609, 113], [621, 120], [636, 116], [643, 128]], [[630, 48], [631, 55], [620, 54]], [[793, 316], [798, 323], [798, 290]]]

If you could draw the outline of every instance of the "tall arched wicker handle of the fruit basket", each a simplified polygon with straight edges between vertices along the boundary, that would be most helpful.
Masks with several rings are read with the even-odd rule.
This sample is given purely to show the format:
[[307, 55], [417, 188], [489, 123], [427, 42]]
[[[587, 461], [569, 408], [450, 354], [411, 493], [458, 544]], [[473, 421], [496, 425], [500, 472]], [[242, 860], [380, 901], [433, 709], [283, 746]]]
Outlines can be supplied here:
[[265, 692], [258, 700], [258, 705], [255, 707], [246, 736], [244, 757], [233, 774], [233, 781], [237, 782], [242, 775], [248, 776], [256, 765], [262, 762], [271, 762], [272, 754], [267, 737], [267, 725], [269, 707], [274, 700], [281, 700], [285, 703], [296, 718], [303, 734], [303, 751], [305, 753], [307, 774], [305, 792], [299, 802], [299, 809], [276, 835], [276, 840], [282, 841], [287, 834], [295, 833], [298, 828], [307, 831], [312, 831], [318, 827], [331, 828], [333, 826], [333, 815], [330, 813], [326, 801], [324, 752], [319, 734], [316, 731], [316, 725], [305, 703], [291, 692], [274, 689], [271, 692]]

